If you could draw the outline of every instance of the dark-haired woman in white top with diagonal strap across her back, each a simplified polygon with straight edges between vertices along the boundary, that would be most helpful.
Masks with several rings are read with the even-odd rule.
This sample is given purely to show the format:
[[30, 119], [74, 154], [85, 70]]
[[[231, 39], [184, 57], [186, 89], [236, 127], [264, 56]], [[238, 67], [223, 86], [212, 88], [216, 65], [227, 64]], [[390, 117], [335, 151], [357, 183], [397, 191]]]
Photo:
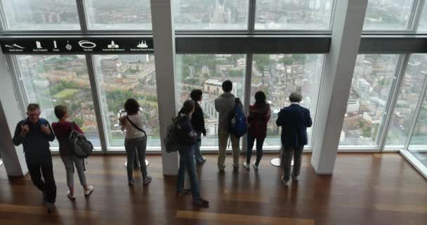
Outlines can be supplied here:
[[144, 115], [140, 113], [138, 101], [129, 98], [124, 103], [126, 115], [119, 117], [121, 131], [126, 130], [124, 139], [124, 148], [126, 149], [126, 157], [128, 164], [126, 169], [128, 172], [128, 184], [133, 186], [133, 162], [138, 151], [138, 160], [140, 163], [141, 174], [143, 175], [143, 185], [151, 182], [151, 176], [147, 175], [147, 165], [145, 165], [145, 150], [147, 149], [147, 134], [143, 129]]

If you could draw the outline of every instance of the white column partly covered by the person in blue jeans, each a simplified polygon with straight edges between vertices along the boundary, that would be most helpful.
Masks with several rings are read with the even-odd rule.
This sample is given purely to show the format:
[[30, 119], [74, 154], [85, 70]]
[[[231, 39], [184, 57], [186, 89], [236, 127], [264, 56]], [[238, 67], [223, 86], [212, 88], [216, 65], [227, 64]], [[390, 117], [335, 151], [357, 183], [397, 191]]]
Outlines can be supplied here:
[[152, 34], [155, 47], [157, 101], [164, 175], [178, 173], [178, 153], [166, 153], [163, 139], [175, 108], [175, 29], [171, 0], [151, 0]]

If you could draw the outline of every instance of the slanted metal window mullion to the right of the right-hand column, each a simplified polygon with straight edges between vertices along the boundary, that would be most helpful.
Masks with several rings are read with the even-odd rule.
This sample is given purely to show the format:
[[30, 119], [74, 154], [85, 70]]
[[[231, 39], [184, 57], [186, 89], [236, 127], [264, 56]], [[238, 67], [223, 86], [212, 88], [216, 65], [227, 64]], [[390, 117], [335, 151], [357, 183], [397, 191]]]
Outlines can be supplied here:
[[[391, 98], [388, 99], [387, 106], [385, 108], [386, 112], [386, 118], [383, 120], [383, 123], [379, 127], [379, 139], [377, 139], [376, 143], [379, 146], [379, 150], [382, 152], [384, 150], [384, 146], [386, 146], [386, 139], [388, 136], [388, 129], [390, 128], [390, 122], [393, 117], [393, 112], [395, 110], [395, 105], [399, 98], [399, 92], [402, 88], [402, 80], [403, 77], [405, 77], [405, 71], [407, 68], [407, 63], [409, 60], [409, 54], [405, 54], [400, 57], [399, 64], [398, 64], [398, 70], [396, 71], [398, 74], [395, 75], [394, 82], [391, 86]], [[383, 113], [383, 114], [384, 114]]]

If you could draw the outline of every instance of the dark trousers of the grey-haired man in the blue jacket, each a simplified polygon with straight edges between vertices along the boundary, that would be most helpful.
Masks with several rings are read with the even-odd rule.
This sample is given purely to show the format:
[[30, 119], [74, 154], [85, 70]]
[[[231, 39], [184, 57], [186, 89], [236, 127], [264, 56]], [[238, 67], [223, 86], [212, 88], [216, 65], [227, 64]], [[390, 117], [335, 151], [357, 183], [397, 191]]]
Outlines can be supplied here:
[[298, 176], [301, 169], [301, 158], [303, 155], [304, 146], [282, 146], [281, 162], [283, 167], [284, 180], [289, 181], [291, 175], [291, 161], [294, 156], [294, 169], [292, 175]]

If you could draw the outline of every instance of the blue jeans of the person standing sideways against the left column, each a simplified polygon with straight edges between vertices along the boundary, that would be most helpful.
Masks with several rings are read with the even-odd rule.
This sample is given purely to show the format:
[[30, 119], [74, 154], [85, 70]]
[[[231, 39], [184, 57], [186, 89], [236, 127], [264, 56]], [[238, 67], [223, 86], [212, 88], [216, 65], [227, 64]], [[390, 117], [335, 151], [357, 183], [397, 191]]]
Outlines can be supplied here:
[[196, 172], [196, 161], [195, 161], [195, 146], [180, 146], [179, 152], [179, 169], [178, 169], [178, 180], [176, 181], [176, 191], [183, 191], [185, 170], [190, 176], [190, 187], [192, 199], [197, 201], [200, 199], [199, 186], [197, 184], [197, 172]]

